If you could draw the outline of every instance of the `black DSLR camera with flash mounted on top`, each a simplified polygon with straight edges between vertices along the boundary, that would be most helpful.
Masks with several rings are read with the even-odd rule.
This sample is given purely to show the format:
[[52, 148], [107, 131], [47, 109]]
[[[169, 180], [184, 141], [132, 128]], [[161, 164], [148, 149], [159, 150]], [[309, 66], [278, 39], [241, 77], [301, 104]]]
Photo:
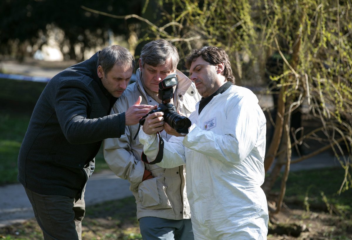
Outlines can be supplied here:
[[176, 73], [168, 75], [164, 80], [159, 82], [159, 99], [163, 102], [159, 104], [157, 109], [148, 112], [144, 117], [139, 120], [139, 124], [143, 125], [145, 118], [154, 112], [163, 112], [164, 121], [168, 123], [173, 129], [180, 134], [187, 134], [188, 128], [191, 126], [191, 121], [176, 112], [175, 105], [170, 103], [174, 95], [174, 86], [178, 84]]

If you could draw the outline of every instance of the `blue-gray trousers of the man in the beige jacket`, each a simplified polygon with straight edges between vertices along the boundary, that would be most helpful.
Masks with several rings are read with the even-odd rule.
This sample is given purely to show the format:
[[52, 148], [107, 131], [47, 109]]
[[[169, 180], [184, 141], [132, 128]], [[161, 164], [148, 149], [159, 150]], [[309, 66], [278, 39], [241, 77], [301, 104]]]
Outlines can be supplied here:
[[194, 240], [190, 219], [170, 220], [160, 217], [141, 217], [139, 228], [143, 240]]

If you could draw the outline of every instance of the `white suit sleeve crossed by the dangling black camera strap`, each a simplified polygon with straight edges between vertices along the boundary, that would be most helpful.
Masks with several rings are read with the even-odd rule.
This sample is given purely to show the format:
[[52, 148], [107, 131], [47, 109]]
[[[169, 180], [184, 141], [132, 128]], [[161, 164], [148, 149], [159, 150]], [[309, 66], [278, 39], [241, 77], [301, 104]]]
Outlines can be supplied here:
[[184, 157], [183, 137], [171, 137], [168, 142], [164, 142], [164, 149], [159, 149], [159, 139], [157, 134], [147, 135], [143, 127], [139, 130], [139, 141], [143, 144], [143, 152], [149, 162], [155, 160], [158, 151], [164, 151], [163, 160], [156, 165], [162, 168], [174, 168], [186, 164]]

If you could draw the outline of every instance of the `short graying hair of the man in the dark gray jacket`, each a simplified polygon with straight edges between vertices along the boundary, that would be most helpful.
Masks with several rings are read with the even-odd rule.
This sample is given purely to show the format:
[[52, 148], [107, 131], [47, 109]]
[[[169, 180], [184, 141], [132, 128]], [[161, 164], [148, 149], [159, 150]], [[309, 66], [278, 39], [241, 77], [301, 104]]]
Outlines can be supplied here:
[[98, 56], [98, 66], [100, 65], [107, 75], [115, 64], [134, 69], [134, 58], [127, 48], [119, 45], [111, 45], [103, 48]]

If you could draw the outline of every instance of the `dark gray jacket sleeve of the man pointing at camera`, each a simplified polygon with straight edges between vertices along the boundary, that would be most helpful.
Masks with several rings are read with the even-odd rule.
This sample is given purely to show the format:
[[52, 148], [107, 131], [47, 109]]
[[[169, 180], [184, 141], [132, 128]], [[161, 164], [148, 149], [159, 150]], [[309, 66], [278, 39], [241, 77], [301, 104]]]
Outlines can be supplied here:
[[[93, 92], [80, 81], [65, 81], [54, 101], [58, 122], [71, 144], [101, 141], [108, 137], [120, 137], [125, 131], [125, 113], [107, 115], [102, 107], [100, 118], [88, 118], [88, 108], [93, 102]], [[105, 112], [103, 112], [105, 111]]]

